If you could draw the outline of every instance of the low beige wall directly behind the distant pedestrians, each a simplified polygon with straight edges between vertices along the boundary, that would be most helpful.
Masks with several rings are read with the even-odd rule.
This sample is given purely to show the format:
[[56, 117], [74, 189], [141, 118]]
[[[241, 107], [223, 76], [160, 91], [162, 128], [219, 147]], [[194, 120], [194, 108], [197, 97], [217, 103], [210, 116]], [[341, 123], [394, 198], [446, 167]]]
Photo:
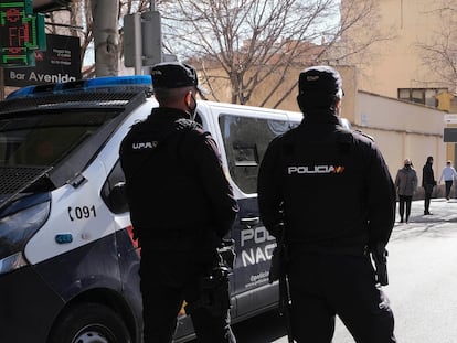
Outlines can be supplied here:
[[428, 156], [434, 157], [436, 179], [446, 164], [446, 143], [443, 142], [445, 114], [435, 108], [359, 90], [353, 124], [374, 138], [393, 178], [408, 157], [422, 182], [422, 167]]

